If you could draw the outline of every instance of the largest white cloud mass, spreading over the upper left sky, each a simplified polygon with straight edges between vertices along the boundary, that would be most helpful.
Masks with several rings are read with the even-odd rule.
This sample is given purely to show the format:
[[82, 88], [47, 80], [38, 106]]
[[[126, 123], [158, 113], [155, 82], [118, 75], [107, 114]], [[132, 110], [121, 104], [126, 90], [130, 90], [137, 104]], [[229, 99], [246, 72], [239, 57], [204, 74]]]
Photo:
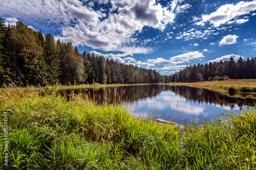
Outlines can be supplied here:
[[[147, 54], [153, 48], [133, 45], [133, 35], [141, 32], [143, 27], [162, 31], [167, 23], [174, 22], [174, 10], [181, 2], [173, 1], [170, 3], [172, 8], [164, 7], [155, 0], [97, 0], [95, 3], [78, 0], [26, 3], [22, 0], [3, 0], [0, 5], [2, 16], [14, 16], [42, 29], [60, 31], [56, 38], [70, 41], [73, 45], [87, 45], [103, 51]], [[101, 5], [112, 8], [106, 11]], [[181, 10], [186, 8], [187, 5], [180, 7]]]

